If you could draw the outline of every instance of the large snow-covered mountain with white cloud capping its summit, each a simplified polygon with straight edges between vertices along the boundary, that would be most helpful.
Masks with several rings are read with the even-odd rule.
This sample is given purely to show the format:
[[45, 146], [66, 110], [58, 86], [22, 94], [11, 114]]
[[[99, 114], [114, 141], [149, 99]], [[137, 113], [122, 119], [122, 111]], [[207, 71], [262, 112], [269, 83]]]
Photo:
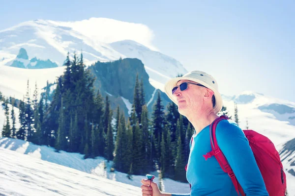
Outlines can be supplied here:
[[[154, 51], [151, 30], [105, 18], [77, 22], [35, 20], [0, 30], [0, 65], [11, 65], [19, 49], [39, 59], [50, 59], [61, 66], [67, 52], [83, 50], [84, 62], [113, 61], [120, 57], [139, 58], [145, 65], [150, 82], [162, 88], [165, 81], [187, 71], [174, 58]], [[133, 41], [130, 41], [133, 40]]]

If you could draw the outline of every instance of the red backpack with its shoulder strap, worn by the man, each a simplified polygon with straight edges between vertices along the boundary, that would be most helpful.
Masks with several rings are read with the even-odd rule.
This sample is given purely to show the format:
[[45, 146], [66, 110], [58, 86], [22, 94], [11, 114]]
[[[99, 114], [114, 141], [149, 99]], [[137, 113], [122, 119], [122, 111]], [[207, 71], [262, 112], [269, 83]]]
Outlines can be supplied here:
[[[210, 140], [212, 151], [208, 152], [206, 155], [203, 155], [205, 159], [215, 156], [219, 165], [221, 166], [224, 172], [227, 172], [231, 177], [236, 192], [239, 195], [239, 192], [242, 196], [245, 196], [241, 186], [239, 185], [236, 175], [234, 174], [231, 166], [226, 160], [226, 157], [220, 150], [216, 140], [216, 127], [217, 124], [222, 120], [228, 120], [229, 118], [226, 115], [215, 119], [210, 125]], [[256, 163], [259, 167], [259, 170], [264, 179], [266, 190], [269, 196], [285, 196], [286, 193], [286, 174], [283, 170], [283, 165], [273, 143], [264, 135], [261, 135], [253, 130], [243, 130], [246, 138], [249, 141], [249, 145], [253, 151]]]

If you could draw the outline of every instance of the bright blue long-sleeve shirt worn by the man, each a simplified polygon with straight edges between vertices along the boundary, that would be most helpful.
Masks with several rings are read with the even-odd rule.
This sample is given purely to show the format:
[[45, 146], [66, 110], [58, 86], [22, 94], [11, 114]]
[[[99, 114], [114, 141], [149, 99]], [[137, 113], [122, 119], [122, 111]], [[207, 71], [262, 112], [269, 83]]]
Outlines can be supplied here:
[[[216, 128], [218, 146], [232, 167], [247, 196], [268, 196], [266, 186], [243, 131], [231, 120], [223, 120]], [[203, 157], [211, 151], [209, 125], [193, 136], [186, 172], [190, 194], [172, 196], [237, 196], [235, 186], [223, 172], [215, 156]]]

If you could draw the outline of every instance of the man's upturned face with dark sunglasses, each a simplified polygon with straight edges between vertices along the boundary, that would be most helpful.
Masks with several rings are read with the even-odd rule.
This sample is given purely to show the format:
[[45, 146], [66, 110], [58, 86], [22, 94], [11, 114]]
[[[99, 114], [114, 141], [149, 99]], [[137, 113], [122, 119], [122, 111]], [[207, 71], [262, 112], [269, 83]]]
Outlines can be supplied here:
[[200, 109], [204, 103], [204, 93], [206, 88], [194, 84], [187, 84], [187, 89], [181, 91], [179, 85], [183, 82], [191, 82], [198, 84], [197, 82], [191, 80], [179, 80], [177, 82], [177, 90], [174, 92], [173, 96], [177, 99], [178, 112], [184, 116], [193, 114], [196, 109]]

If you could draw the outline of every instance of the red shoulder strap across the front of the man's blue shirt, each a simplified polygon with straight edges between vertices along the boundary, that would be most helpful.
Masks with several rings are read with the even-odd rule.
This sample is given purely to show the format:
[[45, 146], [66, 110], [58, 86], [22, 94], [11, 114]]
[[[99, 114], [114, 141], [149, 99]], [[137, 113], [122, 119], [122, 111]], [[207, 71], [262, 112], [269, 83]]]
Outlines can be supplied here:
[[236, 179], [236, 175], [233, 172], [231, 166], [229, 165], [228, 161], [226, 160], [226, 157], [224, 156], [224, 154], [222, 153], [222, 151], [220, 150], [218, 144], [217, 144], [217, 140], [216, 140], [216, 127], [217, 124], [222, 121], [222, 120], [228, 120], [229, 118], [226, 115], [222, 115], [219, 118], [215, 119], [213, 121], [213, 123], [210, 124], [210, 143], [211, 143], [211, 148], [212, 151], [208, 152], [206, 155], [203, 155], [205, 157], [205, 159], [207, 160], [207, 158], [210, 158], [211, 156], [215, 156], [216, 160], [218, 161], [220, 167], [222, 168], [222, 170], [226, 173], [228, 173], [228, 175], [230, 176], [237, 195], [239, 196], [239, 191], [242, 194], [242, 196], [244, 196], [244, 192], [242, 190], [242, 188], [240, 187], [239, 183], [237, 182]]

